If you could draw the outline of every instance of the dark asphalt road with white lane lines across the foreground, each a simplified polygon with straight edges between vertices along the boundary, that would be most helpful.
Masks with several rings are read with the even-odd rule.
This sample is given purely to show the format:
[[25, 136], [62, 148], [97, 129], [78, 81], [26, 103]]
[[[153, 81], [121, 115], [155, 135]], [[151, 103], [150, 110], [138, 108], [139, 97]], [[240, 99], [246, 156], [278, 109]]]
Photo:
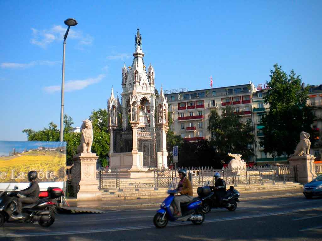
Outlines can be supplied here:
[[50, 228], [5, 224], [0, 240], [322, 240], [322, 199], [303, 197], [238, 203], [235, 211], [215, 209], [201, 226], [153, 225], [156, 209], [109, 210], [104, 214], [58, 215]]

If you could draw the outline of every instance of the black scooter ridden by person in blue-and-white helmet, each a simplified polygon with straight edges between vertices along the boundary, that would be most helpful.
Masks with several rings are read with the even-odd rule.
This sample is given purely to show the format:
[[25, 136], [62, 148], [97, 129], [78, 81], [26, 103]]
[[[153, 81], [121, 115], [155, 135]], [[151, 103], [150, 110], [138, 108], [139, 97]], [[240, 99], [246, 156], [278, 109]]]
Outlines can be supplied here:
[[214, 195], [215, 189], [207, 182], [203, 187], [198, 187], [198, 197], [202, 200], [202, 211], [208, 213], [212, 208], [226, 208], [229, 211], [234, 211], [237, 208], [237, 202], [240, 202], [238, 197], [240, 193], [230, 186], [227, 194], [223, 197], [222, 205], [220, 206]]

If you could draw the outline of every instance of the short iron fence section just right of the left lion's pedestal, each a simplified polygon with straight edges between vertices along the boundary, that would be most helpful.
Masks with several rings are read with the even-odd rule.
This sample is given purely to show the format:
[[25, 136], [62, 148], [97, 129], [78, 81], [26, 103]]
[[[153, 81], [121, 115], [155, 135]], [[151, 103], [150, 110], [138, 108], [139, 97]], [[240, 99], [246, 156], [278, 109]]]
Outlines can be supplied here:
[[117, 169], [97, 170], [96, 178], [99, 180], [99, 189], [120, 187], [120, 172]]

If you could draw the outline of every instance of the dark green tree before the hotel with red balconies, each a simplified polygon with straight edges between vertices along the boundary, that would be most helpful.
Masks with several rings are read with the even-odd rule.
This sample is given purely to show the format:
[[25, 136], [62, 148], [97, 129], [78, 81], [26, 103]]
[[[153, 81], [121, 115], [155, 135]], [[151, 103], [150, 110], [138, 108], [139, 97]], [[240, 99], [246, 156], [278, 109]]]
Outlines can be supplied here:
[[212, 134], [210, 144], [216, 149], [220, 160], [228, 163], [228, 153], [241, 154], [245, 161], [254, 156], [253, 127], [251, 121], [241, 121], [241, 116], [234, 113], [232, 106], [222, 108], [220, 116], [217, 110], [211, 112], [208, 129]]

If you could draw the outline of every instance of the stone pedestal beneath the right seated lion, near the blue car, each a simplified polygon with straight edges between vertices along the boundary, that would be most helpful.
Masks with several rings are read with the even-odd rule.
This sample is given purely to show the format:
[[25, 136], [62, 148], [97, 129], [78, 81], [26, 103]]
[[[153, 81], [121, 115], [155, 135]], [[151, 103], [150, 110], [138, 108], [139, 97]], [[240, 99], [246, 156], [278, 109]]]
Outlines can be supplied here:
[[314, 171], [315, 157], [310, 156], [292, 156], [289, 161], [289, 172], [301, 184], [311, 182], [317, 175]]

